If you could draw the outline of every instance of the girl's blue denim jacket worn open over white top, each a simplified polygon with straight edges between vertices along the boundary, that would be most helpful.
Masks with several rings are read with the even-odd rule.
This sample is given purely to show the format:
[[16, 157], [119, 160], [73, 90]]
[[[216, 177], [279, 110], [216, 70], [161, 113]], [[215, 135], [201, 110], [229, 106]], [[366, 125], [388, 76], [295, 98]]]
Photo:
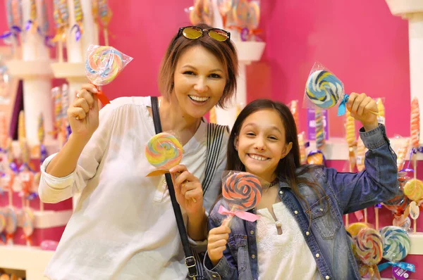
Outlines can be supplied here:
[[[362, 128], [360, 136], [369, 149], [364, 171], [341, 173], [333, 168], [317, 167], [302, 175], [324, 189], [320, 200], [309, 186], [300, 184], [298, 188], [307, 206], [295, 197], [286, 182], [279, 183], [279, 197], [298, 222], [322, 279], [362, 279], [353, 255], [352, 239], [343, 227], [342, 215], [387, 201], [399, 191], [396, 154], [389, 145], [384, 125], [369, 132]], [[219, 227], [226, 218], [218, 213], [221, 203], [216, 203], [209, 215], [209, 229]], [[258, 279], [255, 234], [256, 222], [233, 217], [224, 257], [216, 267], [207, 254], [204, 257], [209, 278]]]

